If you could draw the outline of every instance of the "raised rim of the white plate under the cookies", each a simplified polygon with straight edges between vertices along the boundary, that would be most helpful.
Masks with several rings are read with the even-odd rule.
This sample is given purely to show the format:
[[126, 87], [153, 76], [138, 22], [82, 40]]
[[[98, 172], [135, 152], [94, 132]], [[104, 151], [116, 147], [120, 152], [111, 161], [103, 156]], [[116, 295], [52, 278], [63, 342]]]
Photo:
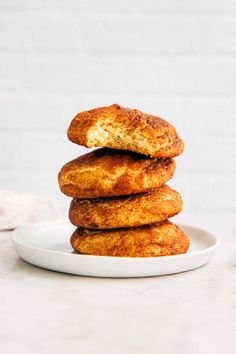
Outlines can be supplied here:
[[[63, 255], [63, 256], [67, 256], [67, 257], [78, 257], [78, 255], [80, 256], [80, 258], [90, 258], [90, 259], [109, 259], [109, 260], [113, 260], [113, 261], [120, 261], [120, 260], [135, 260], [135, 261], [143, 261], [143, 260], [146, 260], [147, 262], [148, 261], [153, 261], [154, 259], [157, 261], [157, 260], [169, 260], [169, 259], [176, 259], [176, 258], [183, 258], [183, 257], [193, 257], [193, 256], [198, 256], [198, 255], [203, 255], [205, 253], [208, 253], [208, 252], [213, 252], [215, 251], [219, 246], [220, 246], [220, 238], [218, 236], [216, 236], [215, 234], [213, 234], [212, 232], [209, 232], [205, 229], [202, 229], [202, 228], [199, 228], [197, 226], [194, 226], [194, 225], [189, 225], [189, 224], [183, 224], [183, 223], [176, 223], [178, 226], [180, 227], [190, 227], [190, 228], [194, 228], [195, 230], [197, 231], [200, 231], [200, 232], [206, 232], [208, 233], [213, 241], [214, 241], [214, 244], [209, 246], [209, 247], [206, 247], [202, 250], [199, 250], [199, 251], [195, 251], [195, 252], [192, 252], [192, 253], [183, 253], [183, 254], [177, 254], [177, 255], [170, 255], [170, 256], [159, 256], [159, 257], [117, 257], [117, 256], [99, 256], [99, 255], [87, 255], [87, 254], [75, 254], [75, 253], [67, 253], [67, 252], [63, 252], [63, 251], [59, 251], [59, 250], [49, 250], [47, 248], [42, 248], [42, 247], [37, 247], [37, 246], [32, 246], [32, 245], [29, 245], [27, 243], [24, 243], [24, 242], [21, 242], [19, 240], [17, 240], [17, 237], [18, 237], [18, 233], [24, 229], [25, 227], [30, 227], [30, 226], [43, 226], [43, 225], [47, 225], [47, 224], [53, 224], [54, 222], [56, 222], [57, 224], [60, 223], [60, 222], [63, 222], [65, 223], [65, 221], [67, 222], [66, 219], [55, 219], [55, 220], [48, 220], [48, 221], [41, 221], [41, 222], [31, 222], [31, 223], [26, 223], [26, 224], [23, 224], [21, 226], [19, 226], [18, 228], [16, 228], [15, 230], [12, 231], [11, 233], [11, 241], [13, 243], [13, 245], [19, 245], [21, 247], [26, 247], [27, 249], [29, 250], [33, 250], [33, 251], [40, 251], [40, 252], [46, 252], [46, 253], [49, 253], [49, 254], [58, 254], [58, 255]], [[69, 224], [68, 224], [69, 225]], [[65, 224], [66, 226], [66, 224]], [[18, 253], [18, 252], [17, 252]]]

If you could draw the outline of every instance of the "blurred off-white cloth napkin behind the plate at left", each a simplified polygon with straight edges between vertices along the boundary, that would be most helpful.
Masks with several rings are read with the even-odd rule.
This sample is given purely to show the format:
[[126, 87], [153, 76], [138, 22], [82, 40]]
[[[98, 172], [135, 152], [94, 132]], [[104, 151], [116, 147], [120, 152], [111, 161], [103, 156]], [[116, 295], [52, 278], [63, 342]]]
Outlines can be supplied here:
[[27, 222], [60, 217], [59, 207], [47, 196], [0, 190], [0, 230], [12, 230]]

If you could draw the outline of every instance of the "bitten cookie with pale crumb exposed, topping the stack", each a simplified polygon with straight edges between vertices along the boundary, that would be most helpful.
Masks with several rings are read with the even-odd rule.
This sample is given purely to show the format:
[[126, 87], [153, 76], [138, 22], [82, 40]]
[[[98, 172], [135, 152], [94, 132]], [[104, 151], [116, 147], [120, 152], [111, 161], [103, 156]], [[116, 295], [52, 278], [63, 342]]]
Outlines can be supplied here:
[[174, 157], [184, 150], [175, 128], [164, 119], [113, 104], [78, 113], [68, 138], [86, 147], [134, 151], [151, 157]]

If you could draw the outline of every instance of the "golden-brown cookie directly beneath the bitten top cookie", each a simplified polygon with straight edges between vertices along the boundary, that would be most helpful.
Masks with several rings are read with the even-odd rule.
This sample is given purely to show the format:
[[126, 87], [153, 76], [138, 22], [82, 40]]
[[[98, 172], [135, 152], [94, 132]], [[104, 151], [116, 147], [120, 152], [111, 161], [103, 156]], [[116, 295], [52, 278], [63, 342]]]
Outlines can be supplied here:
[[68, 162], [59, 172], [61, 191], [73, 198], [142, 193], [172, 178], [173, 159], [150, 159], [128, 151], [97, 149]]

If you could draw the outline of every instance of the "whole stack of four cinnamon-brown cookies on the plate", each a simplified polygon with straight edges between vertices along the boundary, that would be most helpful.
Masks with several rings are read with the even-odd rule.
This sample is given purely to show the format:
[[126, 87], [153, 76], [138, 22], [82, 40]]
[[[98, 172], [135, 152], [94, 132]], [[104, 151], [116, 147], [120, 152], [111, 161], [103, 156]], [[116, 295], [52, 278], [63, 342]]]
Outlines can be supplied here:
[[173, 157], [184, 144], [159, 117], [117, 104], [79, 113], [68, 138], [101, 149], [76, 158], [58, 175], [72, 202], [77, 228], [71, 245], [78, 253], [157, 257], [186, 253], [188, 237], [168, 219], [182, 210], [173, 177]]

